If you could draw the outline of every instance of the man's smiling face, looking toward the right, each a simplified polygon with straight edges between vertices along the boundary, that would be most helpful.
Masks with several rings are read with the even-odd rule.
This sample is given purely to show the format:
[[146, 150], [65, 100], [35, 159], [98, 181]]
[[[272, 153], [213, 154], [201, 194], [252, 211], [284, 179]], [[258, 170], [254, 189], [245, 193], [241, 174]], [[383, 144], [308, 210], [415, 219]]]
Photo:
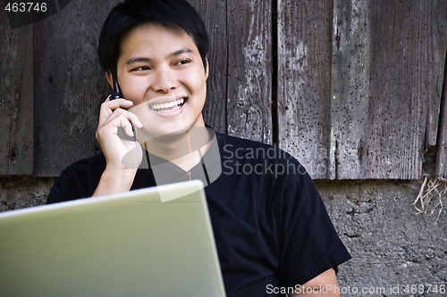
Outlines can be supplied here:
[[[197, 45], [182, 29], [143, 24], [122, 38], [117, 78], [151, 136], [205, 127], [207, 75]], [[110, 81], [110, 79], [109, 79]]]

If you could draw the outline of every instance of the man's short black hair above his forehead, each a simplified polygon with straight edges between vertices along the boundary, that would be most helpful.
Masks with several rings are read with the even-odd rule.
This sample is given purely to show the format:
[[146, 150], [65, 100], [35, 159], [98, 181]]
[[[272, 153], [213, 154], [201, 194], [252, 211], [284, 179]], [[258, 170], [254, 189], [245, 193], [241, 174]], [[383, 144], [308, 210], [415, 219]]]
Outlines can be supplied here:
[[105, 71], [115, 71], [120, 45], [131, 29], [144, 23], [156, 23], [168, 29], [184, 29], [198, 47], [206, 67], [209, 37], [198, 12], [185, 0], [126, 0], [109, 13], [101, 29], [97, 55]]

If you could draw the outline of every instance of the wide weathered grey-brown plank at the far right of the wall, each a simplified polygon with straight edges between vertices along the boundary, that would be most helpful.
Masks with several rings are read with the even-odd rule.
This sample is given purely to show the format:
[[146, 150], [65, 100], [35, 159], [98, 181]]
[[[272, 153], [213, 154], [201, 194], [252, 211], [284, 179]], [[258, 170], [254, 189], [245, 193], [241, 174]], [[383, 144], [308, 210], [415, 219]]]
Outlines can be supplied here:
[[[445, 9], [441, 1], [375, 1], [367, 178], [417, 179], [435, 144], [443, 81]], [[430, 112], [429, 112], [430, 110]]]

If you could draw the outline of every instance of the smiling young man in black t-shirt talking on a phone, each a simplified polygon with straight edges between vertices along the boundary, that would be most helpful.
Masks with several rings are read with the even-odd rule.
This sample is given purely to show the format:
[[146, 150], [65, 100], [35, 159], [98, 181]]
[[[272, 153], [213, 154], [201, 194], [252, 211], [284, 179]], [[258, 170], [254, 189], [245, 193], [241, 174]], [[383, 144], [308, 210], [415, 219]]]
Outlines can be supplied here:
[[183, 0], [114, 7], [98, 55], [121, 96], [101, 106], [103, 153], [65, 169], [48, 202], [200, 178], [229, 297], [339, 295], [334, 268], [350, 254], [299, 162], [205, 127], [208, 47]]

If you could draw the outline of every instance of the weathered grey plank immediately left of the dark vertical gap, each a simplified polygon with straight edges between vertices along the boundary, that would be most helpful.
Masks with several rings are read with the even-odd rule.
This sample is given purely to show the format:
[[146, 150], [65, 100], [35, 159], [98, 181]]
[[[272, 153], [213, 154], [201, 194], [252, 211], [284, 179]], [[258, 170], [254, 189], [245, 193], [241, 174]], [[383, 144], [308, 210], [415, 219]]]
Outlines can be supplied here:
[[228, 134], [272, 143], [272, 1], [229, 1]]

